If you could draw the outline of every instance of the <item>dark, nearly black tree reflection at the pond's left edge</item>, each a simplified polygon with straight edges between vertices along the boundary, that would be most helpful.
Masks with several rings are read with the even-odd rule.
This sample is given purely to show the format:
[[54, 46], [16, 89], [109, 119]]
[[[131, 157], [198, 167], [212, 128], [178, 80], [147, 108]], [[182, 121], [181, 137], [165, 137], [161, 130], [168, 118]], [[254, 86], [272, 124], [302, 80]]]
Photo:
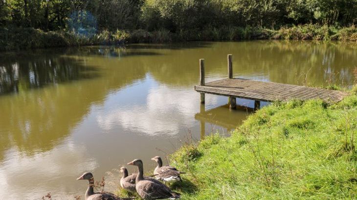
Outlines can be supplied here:
[[88, 79], [95, 75], [93, 72], [94, 68], [84, 67], [76, 60], [58, 55], [22, 59], [6, 57], [0, 63], [0, 94]]

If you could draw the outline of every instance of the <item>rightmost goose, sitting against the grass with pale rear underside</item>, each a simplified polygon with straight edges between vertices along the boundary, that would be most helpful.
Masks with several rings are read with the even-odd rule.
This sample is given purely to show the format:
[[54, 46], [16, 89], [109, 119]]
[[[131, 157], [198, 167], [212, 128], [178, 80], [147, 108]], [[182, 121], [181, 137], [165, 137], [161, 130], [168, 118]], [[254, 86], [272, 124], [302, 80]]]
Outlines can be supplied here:
[[155, 160], [157, 162], [157, 166], [154, 170], [154, 174], [157, 174], [157, 180], [162, 180], [164, 183], [182, 181], [180, 174], [185, 174], [185, 172], [180, 172], [175, 167], [170, 165], [162, 166], [162, 160], [159, 156], [156, 156], [151, 160]]

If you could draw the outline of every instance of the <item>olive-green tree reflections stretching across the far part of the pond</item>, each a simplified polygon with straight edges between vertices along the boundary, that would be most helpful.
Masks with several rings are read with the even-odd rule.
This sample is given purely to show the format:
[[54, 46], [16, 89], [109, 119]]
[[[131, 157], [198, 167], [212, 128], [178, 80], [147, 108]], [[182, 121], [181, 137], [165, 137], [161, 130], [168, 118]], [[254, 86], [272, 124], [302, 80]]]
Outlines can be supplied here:
[[[296, 84], [295, 74], [311, 68], [308, 78], [316, 84], [324, 83], [329, 73], [338, 73], [341, 80], [352, 84], [356, 48], [351, 43], [252, 41], [83, 47], [2, 55], [0, 160], [13, 146], [27, 154], [53, 148], [65, 140], [93, 103], [102, 103], [110, 92], [145, 78], [147, 73], [169, 86], [192, 87], [199, 81], [200, 58], [206, 59], [208, 78], [217, 74], [226, 77], [226, 56], [231, 53], [236, 77]], [[86, 80], [72, 81], [80, 79]], [[72, 82], [26, 91], [67, 81]], [[9, 94], [14, 92], [19, 93]], [[218, 114], [225, 115], [226, 109]], [[224, 121], [231, 120], [236, 119]]]

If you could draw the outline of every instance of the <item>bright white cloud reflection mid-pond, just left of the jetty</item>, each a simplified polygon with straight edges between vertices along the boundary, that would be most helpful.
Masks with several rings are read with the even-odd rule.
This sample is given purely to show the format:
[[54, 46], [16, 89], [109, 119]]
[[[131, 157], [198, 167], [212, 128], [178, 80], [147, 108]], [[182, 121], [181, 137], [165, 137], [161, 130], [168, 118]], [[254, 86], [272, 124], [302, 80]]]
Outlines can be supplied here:
[[[110, 99], [120, 99], [122, 94], [112, 95], [117, 97]], [[150, 136], [176, 135], [180, 129], [195, 122], [192, 116], [198, 112], [199, 98], [198, 93], [187, 92], [187, 88], [152, 87], [148, 90], [146, 104], [126, 105], [110, 111], [104, 109], [106, 112], [98, 113], [96, 118], [99, 127], [107, 131], [120, 124], [126, 130]], [[217, 97], [212, 96], [209, 101], [215, 103]]]

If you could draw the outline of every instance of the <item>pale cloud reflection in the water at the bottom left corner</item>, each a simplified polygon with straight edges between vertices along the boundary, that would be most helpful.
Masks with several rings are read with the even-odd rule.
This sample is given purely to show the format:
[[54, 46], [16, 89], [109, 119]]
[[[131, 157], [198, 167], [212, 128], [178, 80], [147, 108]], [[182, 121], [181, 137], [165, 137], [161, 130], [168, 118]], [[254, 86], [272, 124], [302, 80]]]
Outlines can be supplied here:
[[[56, 196], [66, 196], [75, 180], [84, 170], [92, 171], [98, 164], [87, 159], [86, 149], [71, 141], [49, 152], [41, 152], [33, 157], [21, 155], [10, 149], [0, 168], [0, 200], [39, 199], [51, 192]], [[16, 187], [15, 187], [16, 186]], [[62, 192], [62, 194], [60, 194]], [[40, 197], [38, 197], [40, 195]]]

